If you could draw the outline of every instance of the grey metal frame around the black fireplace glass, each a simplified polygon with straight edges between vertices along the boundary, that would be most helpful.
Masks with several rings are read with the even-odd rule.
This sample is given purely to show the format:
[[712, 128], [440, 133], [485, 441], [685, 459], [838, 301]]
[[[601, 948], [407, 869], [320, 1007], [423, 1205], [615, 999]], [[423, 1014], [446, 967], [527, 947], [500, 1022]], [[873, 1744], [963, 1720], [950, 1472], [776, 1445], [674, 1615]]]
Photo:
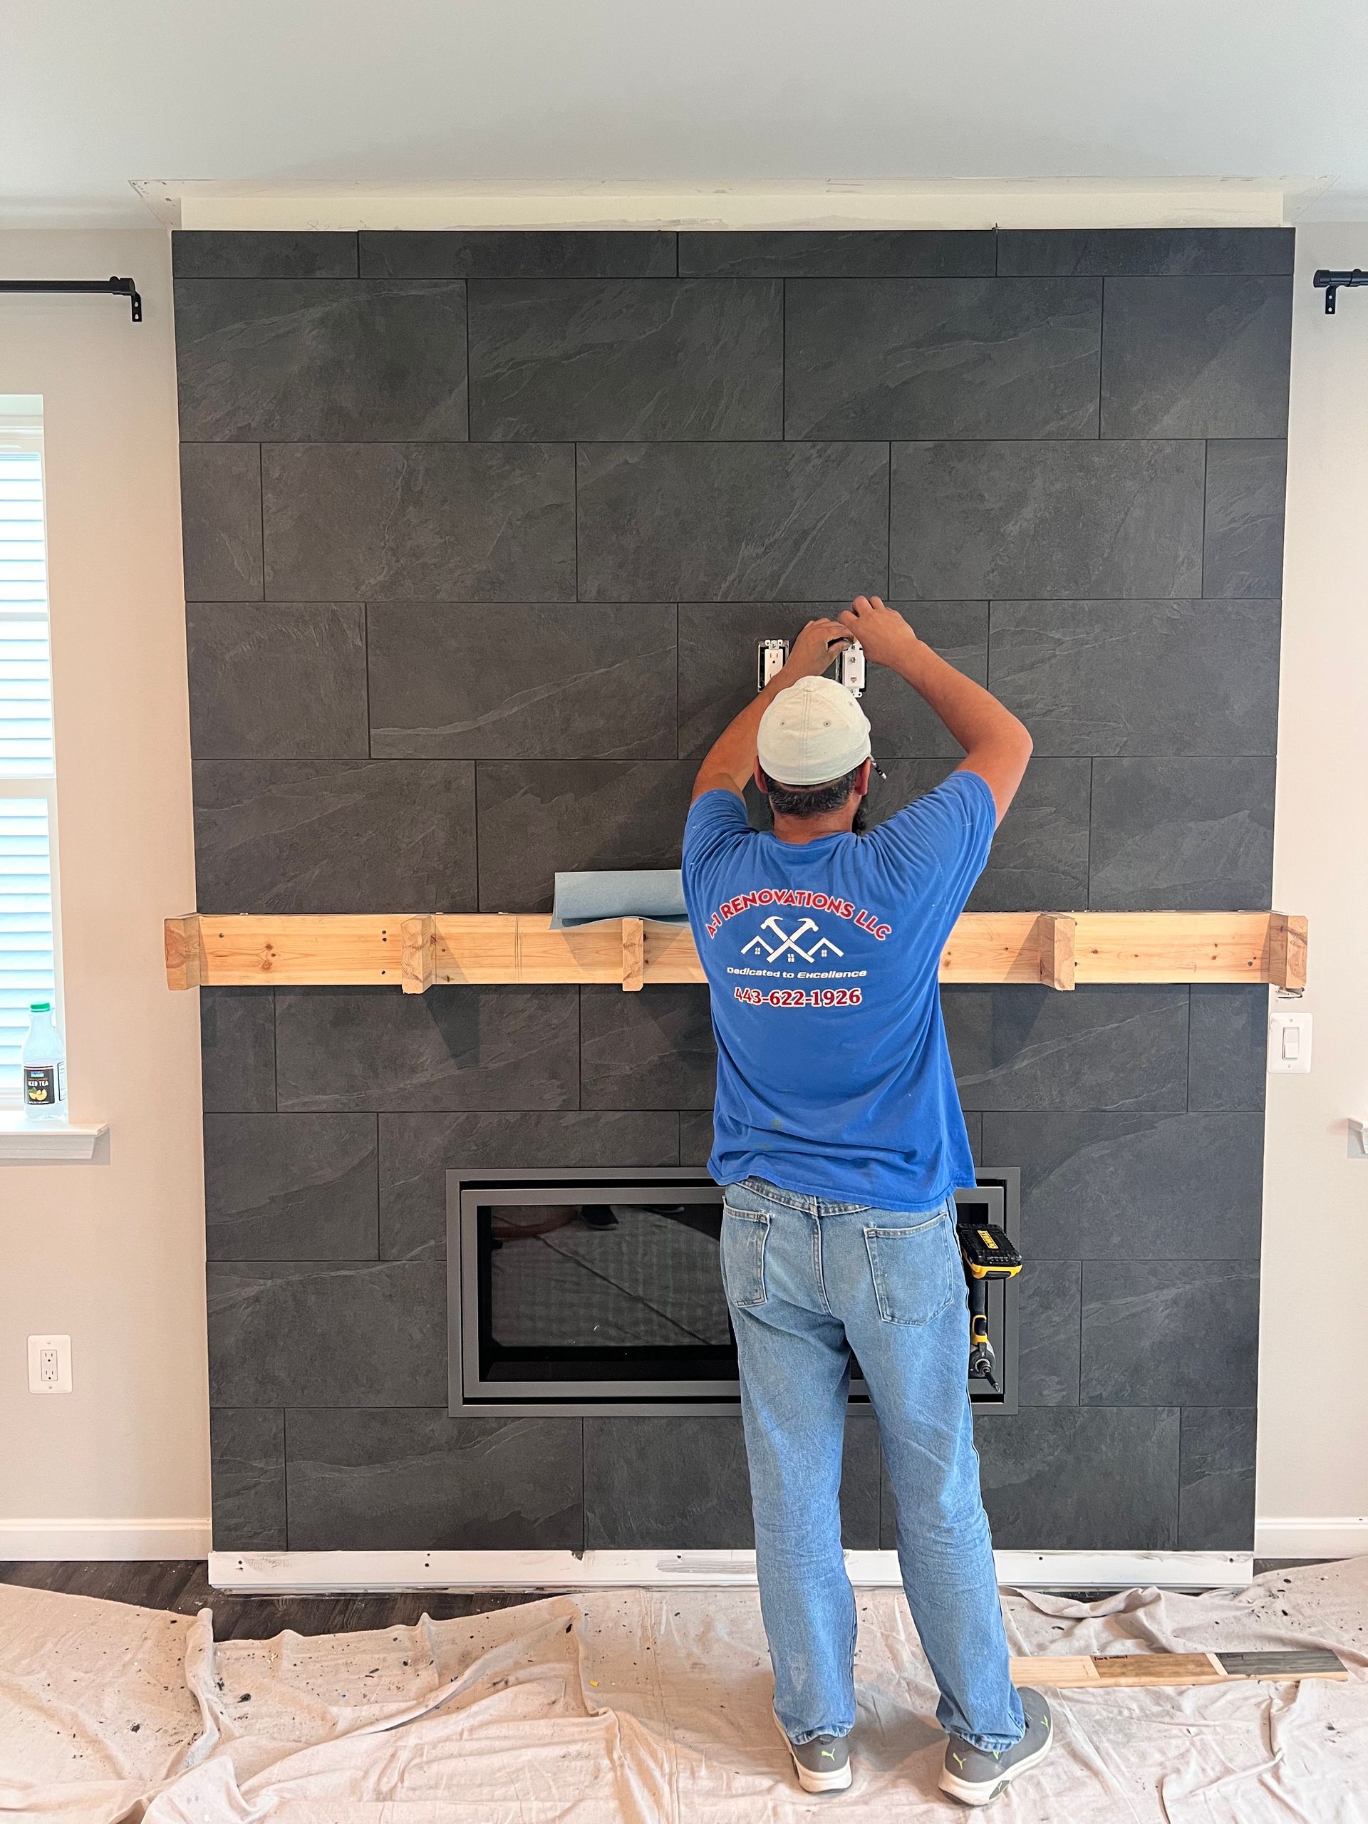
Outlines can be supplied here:
[[[1021, 1173], [1016, 1166], [979, 1166], [978, 1189], [985, 1193], [989, 1217], [1000, 1222], [1020, 1246]], [[482, 1368], [480, 1333], [480, 1257], [478, 1211], [491, 1204], [564, 1204], [593, 1191], [611, 1189], [615, 1202], [697, 1202], [720, 1204], [722, 1191], [700, 1166], [600, 1166], [560, 1169], [534, 1167], [456, 1167], [447, 1171], [447, 1410], [451, 1417], [668, 1417], [735, 1414], [741, 1404], [733, 1379], [668, 1379], [635, 1383], [629, 1395], [602, 1395], [596, 1388], [611, 1381], [571, 1377], [547, 1379], [529, 1373], [525, 1381], [487, 1381]], [[666, 1195], [662, 1195], [666, 1193]], [[693, 1193], [693, 1195], [688, 1195]], [[958, 1193], [972, 1202], [972, 1191]], [[983, 1395], [974, 1384], [976, 1412], [1012, 1415], [1018, 1410], [1020, 1313], [1018, 1280], [989, 1284], [989, 1333], [998, 1352], [1001, 1395]], [[631, 1379], [624, 1375], [622, 1379]], [[507, 1390], [500, 1394], [500, 1390]], [[868, 1406], [868, 1394], [857, 1377], [850, 1383], [850, 1404]]]

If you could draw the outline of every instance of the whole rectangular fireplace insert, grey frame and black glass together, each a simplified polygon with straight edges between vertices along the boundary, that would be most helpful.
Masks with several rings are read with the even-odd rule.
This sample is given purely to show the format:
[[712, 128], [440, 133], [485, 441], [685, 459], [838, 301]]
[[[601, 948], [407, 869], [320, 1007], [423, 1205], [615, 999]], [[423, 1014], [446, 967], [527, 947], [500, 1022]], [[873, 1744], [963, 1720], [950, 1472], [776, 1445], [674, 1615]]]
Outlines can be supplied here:
[[[1016, 1167], [981, 1167], [958, 1195], [1020, 1240]], [[449, 1171], [451, 1412], [735, 1412], [720, 1226], [700, 1167]], [[992, 1280], [1001, 1392], [970, 1383], [976, 1406], [1016, 1412], [1016, 1280]], [[868, 1403], [857, 1366], [850, 1399]]]

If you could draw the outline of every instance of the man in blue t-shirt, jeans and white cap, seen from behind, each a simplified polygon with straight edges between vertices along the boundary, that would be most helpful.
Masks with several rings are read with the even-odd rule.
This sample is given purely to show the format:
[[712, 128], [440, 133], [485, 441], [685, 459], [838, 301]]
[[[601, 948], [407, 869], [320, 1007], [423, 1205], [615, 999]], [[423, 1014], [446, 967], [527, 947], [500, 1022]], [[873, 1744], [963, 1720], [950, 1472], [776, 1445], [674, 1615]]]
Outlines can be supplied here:
[[[870, 835], [870, 724], [824, 679], [852, 638], [965, 750]], [[941, 1691], [941, 1789], [987, 1804], [1051, 1744], [1009, 1673], [969, 1408], [954, 1191], [974, 1184], [938, 970], [1031, 737], [907, 620], [857, 596], [814, 620], [719, 735], [684, 828], [717, 1034], [708, 1169], [741, 1359], [775, 1720], [806, 1791], [850, 1784], [855, 1601], [841, 1556], [852, 1361], [897, 1496], [903, 1587]], [[770, 797], [751, 830], [742, 792]]]

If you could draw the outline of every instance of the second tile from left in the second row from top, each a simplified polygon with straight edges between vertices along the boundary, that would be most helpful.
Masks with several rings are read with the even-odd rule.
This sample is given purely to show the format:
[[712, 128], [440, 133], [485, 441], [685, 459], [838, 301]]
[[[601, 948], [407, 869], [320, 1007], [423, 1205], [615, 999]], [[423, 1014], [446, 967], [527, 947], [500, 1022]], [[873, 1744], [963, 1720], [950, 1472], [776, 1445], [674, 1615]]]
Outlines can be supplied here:
[[471, 436], [781, 438], [772, 279], [500, 279], [471, 286]]

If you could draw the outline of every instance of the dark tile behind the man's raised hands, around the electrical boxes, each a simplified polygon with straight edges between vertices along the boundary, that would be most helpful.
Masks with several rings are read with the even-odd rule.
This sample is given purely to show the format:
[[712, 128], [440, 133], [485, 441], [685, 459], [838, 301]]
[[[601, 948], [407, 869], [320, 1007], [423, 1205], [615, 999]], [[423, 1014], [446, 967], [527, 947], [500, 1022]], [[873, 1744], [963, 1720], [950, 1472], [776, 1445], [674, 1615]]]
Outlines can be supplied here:
[[[761, 640], [793, 640], [839, 602], [680, 602], [679, 607], [679, 751], [702, 759], [728, 722], [755, 697]], [[892, 604], [897, 607], [899, 604]], [[989, 680], [989, 604], [914, 602], [907, 617], [928, 646], [976, 684]], [[861, 710], [874, 724], [879, 762], [963, 750], [927, 702], [885, 666], [868, 666]]]

